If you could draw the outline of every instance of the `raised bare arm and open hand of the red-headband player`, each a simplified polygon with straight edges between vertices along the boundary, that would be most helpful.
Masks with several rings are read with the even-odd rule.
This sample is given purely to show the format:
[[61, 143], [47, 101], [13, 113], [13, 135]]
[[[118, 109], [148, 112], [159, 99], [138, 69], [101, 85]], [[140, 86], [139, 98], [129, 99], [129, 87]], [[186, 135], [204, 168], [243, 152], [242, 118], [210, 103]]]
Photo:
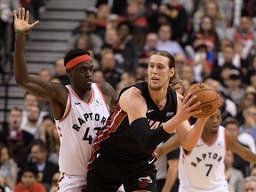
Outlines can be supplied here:
[[63, 105], [65, 105], [66, 99], [60, 99], [60, 95], [61, 97], [63, 97], [62, 95], [65, 95], [63, 94], [65, 92], [65, 88], [63, 85], [48, 83], [39, 76], [28, 75], [27, 61], [25, 58], [25, 45], [27, 41], [27, 34], [30, 30], [36, 27], [39, 21], [28, 24], [29, 12], [26, 12], [24, 8], [19, 8], [18, 12], [14, 10], [13, 13], [15, 29], [14, 76], [16, 83], [21, 88], [23, 88], [27, 92], [36, 95], [37, 97], [49, 101], [59, 100]]

